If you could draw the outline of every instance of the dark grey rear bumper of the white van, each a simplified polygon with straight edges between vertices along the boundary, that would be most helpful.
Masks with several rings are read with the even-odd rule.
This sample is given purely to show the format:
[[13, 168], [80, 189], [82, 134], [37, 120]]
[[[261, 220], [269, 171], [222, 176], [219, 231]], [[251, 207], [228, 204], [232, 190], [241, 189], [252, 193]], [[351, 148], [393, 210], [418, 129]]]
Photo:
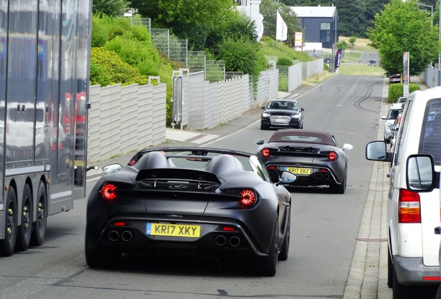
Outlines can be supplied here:
[[397, 280], [402, 285], [434, 285], [440, 280], [424, 280], [424, 278], [440, 277], [439, 266], [425, 266], [422, 257], [400, 257], [395, 255], [394, 269]]

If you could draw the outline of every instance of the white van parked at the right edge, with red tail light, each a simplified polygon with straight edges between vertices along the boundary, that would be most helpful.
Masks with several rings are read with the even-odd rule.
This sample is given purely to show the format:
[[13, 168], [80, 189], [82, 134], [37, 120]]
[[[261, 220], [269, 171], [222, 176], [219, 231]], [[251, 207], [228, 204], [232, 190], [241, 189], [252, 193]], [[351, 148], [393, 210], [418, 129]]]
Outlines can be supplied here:
[[[392, 287], [393, 298], [421, 298], [422, 287], [436, 286], [441, 281], [440, 235], [435, 234], [435, 228], [440, 226], [440, 185], [439, 179], [433, 179], [430, 188], [425, 183], [413, 188], [415, 184], [406, 177], [407, 163], [410, 155], [426, 154], [433, 157], [433, 175], [435, 170], [440, 171], [441, 87], [410, 94], [396, 142], [394, 152], [387, 152], [384, 141], [367, 144], [366, 158], [391, 165], [387, 203], [388, 286]], [[415, 174], [410, 181], [412, 178]], [[425, 176], [417, 176], [420, 183], [422, 178]]]

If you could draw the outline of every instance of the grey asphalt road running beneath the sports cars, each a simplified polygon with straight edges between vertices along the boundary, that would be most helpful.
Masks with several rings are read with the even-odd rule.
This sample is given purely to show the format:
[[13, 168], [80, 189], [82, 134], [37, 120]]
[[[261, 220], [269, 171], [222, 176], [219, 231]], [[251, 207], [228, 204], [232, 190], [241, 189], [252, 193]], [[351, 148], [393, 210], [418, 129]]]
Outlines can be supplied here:
[[[360, 229], [367, 221], [363, 217], [375, 174], [374, 163], [365, 159], [365, 144], [378, 138], [384, 87], [383, 78], [338, 75], [317, 87], [300, 87], [284, 95], [296, 98], [304, 107], [305, 129], [332, 132], [340, 146], [351, 143], [354, 149], [347, 152], [345, 194], [329, 194], [327, 188], [291, 190], [290, 257], [279, 262], [274, 278], [248, 275], [241, 260], [219, 264], [197, 258], [128, 255], [117, 269], [89, 269], [84, 256], [86, 199], [80, 199], [75, 201], [73, 210], [49, 217], [44, 246], [0, 257], [0, 298], [373, 299], [379, 290], [386, 292], [381, 298], [391, 298], [387, 287], [373, 287], [372, 293], [366, 293], [361, 284], [354, 282], [363, 282], [365, 269], [379, 266], [377, 252], [376, 262], [354, 268], [354, 253]], [[230, 123], [204, 131], [217, 136], [206, 145], [254, 152], [254, 141], [268, 140], [273, 133], [260, 130], [260, 111], [253, 109]], [[183, 141], [168, 141], [165, 145], [195, 146]], [[130, 156], [96, 164], [127, 163]], [[380, 177], [380, 181], [383, 179]], [[88, 192], [94, 181], [92, 174], [87, 182]], [[369, 241], [384, 243], [381, 239], [363, 240], [366, 244]], [[362, 251], [366, 254], [367, 248]], [[377, 269], [374, 277], [377, 284], [384, 282], [378, 272]], [[355, 296], [347, 289], [348, 284], [358, 286]]]

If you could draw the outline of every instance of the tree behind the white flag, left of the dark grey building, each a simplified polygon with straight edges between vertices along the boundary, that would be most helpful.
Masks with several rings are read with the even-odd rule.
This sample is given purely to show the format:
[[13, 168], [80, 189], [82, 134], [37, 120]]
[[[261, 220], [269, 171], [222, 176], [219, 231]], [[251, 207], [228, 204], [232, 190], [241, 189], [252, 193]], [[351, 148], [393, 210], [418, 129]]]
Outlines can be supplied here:
[[277, 3], [276, 0], [262, 0], [260, 4], [260, 13], [263, 15], [263, 35], [275, 39], [276, 24], [277, 24], [277, 10], [279, 10], [282, 19], [286, 23], [288, 30], [288, 37], [286, 44], [294, 46], [295, 33], [303, 31], [300, 27], [300, 21], [291, 10], [291, 7], [283, 3]]

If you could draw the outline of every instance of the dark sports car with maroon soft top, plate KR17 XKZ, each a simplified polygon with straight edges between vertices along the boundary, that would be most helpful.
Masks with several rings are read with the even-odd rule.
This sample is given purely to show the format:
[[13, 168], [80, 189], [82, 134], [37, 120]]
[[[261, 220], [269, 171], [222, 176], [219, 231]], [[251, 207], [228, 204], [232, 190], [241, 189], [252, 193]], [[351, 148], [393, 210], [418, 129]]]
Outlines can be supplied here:
[[291, 185], [329, 185], [333, 193], [345, 193], [347, 181], [347, 155], [352, 145], [338, 147], [336, 138], [326, 132], [300, 129], [277, 130], [268, 143], [263, 139], [257, 156], [266, 165], [273, 181], [281, 172], [297, 174]]

